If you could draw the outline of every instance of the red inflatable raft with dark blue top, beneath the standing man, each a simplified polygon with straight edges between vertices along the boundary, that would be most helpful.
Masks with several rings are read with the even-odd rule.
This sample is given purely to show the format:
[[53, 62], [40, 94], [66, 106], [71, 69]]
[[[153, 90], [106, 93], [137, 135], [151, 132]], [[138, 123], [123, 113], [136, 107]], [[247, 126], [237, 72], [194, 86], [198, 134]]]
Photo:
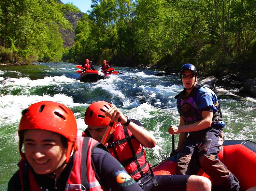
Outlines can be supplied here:
[[[247, 140], [224, 141], [219, 159], [239, 180], [240, 189], [247, 190], [256, 186], [256, 143]], [[153, 167], [155, 175], [175, 174], [177, 154]], [[202, 169], [197, 175], [209, 178]]]

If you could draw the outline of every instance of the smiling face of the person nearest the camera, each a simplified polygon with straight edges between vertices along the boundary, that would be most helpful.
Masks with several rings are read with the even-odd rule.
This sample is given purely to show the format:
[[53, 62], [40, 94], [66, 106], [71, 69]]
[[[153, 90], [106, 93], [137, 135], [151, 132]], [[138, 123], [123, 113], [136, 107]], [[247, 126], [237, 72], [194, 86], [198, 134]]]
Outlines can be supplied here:
[[26, 159], [37, 174], [48, 174], [66, 160], [67, 148], [60, 135], [51, 131], [29, 129], [24, 132]]

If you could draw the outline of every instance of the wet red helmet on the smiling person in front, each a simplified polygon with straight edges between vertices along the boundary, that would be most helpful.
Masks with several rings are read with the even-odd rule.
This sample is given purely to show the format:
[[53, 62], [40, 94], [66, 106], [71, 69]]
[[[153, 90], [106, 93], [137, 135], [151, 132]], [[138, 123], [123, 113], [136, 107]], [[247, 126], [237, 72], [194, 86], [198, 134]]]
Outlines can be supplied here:
[[58, 133], [68, 139], [67, 159], [73, 154], [75, 148], [75, 139], [77, 136], [77, 125], [73, 112], [57, 102], [43, 101], [34, 103], [23, 110], [22, 118], [19, 122], [19, 153], [22, 153], [23, 136], [20, 133], [26, 129], [40, 129]]

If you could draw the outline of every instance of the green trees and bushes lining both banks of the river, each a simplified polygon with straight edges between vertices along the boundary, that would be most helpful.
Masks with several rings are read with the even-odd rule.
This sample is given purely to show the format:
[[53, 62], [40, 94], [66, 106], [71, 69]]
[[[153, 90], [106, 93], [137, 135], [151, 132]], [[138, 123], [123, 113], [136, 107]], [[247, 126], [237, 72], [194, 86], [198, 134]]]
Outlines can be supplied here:
[[192, 63], [203, 75], [228, 70], [256, 77], [255, 0], [92, 0], [77, 22], [75, 44], [63, 50], [58, 27], [71, 27], [67, 10], [77, 11], [55, 0], [1, 1], [0, 59], [106, 59], [164, 69]]

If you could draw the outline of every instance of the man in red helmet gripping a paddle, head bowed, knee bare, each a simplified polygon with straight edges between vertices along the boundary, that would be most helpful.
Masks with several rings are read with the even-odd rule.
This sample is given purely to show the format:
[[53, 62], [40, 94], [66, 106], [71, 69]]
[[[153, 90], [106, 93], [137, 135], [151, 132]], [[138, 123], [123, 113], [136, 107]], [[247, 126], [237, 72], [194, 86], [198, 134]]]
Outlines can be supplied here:
[[143, 146], [154, 147], [155, 137], [140, 122], [125, 117], [110, 103], [92, 103], [85, 111], [84, 120], [88, 128], [83, 136], [87, 135], [98, 141], [102, 140], [110, 122], [114, 122], [113, 129], [106, 137], [105, 146], [143, 190], [211, 190], [210, 180], [202, 176], [154, 175]]

